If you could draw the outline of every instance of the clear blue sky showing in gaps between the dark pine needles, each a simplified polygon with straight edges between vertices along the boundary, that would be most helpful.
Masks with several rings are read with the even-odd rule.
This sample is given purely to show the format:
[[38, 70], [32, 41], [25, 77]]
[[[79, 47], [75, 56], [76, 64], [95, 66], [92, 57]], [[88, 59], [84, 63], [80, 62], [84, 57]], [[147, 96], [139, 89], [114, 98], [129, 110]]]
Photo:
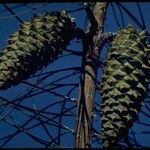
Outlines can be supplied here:
[[[150, 29], [150, 19], [149, 19], [149, 14], [150, 14], [150, 5], [149, 3], [139, 3], [141, 6], [141, 10], [143, 12], [143, 17], [146, 25], [146, 29], [149, 32]], [[123, 6], [128, 8], [128, 10], [131, 12], [131, 14], [139, 20], [139, 22], [142, 22], [139, 9], [137, 7], [137, 4], [134, 2], [130, 3], [122, 3]], [[45, 4], [30, 4], [28, 7], [25, 6], [20, 6], [18, 8], [14, 8], [15, 6], [18, 6], [18, 4], [8, 4], [10, 8], [13, 8], [12, 10], [15, 11], [15, 13], [19, 13], [19, 17], [23, 21], [30, 21], [33, 13], [40, 15], [44, 14], [46, 11], [60, 11], [62, 9], [66, 10], [75, 10], [77, 8], [81, 8], [82, 6], [79, 5], [79, 3], [49, 3]], [[31, 8], [37, 7], [37, 9], [32, 10]], [[113, 10], [116, 12], [116, 18], [113, 13]], [[10, 12], [8, 12], [2, 4], [0, 4], [0, 48], [1, 50], [3, 47], [7, 45], [7, 39], [9, 35], [15, 31], [18, 30], [19, 28], [19, 21], [15, 18], [12, 17]], [[127, 26], [129, 23], [134, 25], [136, 28], [138, 28], [141, 31], [141, 28], [139, 25], [135, 23], [133, 18], [130, 18], [123, 9], [121, 9], [123, 12], [123, 19], [121, 19], [122, 15], [120, 13], [120, 10], [118, 7], [113, 3], [113, 5], [109, 5], [108, 12], [106, 15], [106, 22], [105, 22], [105, 31], [106, 32], [117, 32], [118, 28]], [[79, 12], [72, 12], [69, 13], [72, 17], [75, 18], [76, 24], [78, 27], [85, 29], [87, 25], [87, 19], [86, 19], [86, 13], [84, 10], [79, 11]], [[118, 23], [117, 23], [118, 22]], [[81, 52], [82, 51], [82, 45], [79, 43], [80, 40], [74, 39], [71, 41], [70, 45], [67, 47], [67, 49], [71, 49], [74, 51]], [[106, 54], [106, 48], [102, 51], [101, 57], [104, 58]], [[46, 85], [47, 89], [51, 89], [55, 87], [56, 85], [54, 84], [78, 84], [79, 83], [79, 72], [78, 70], [70, 69], [69, 71], [59, 71], [55, 74], [51, 74], [52, 71], [54, 70], [61, 70], [63, 68], [72, 68], [72, 67], [80, 67], [81, 66], [81, 57], [75, 56], [75, 55], [68, 55], [70, 54], [67, 51], [64, 51], [64, 54], [59, 57], [54, 63], [48, 65], [47, 68], [42, 69], [41, 71], [37, 72], [37, 75], [40, 73], [45, 73], [42, 76], [37, 76], [37, 77], [32, 77], [27, 80], [29, 83], [36, 83], [36, 81], [45, 75], [48, 75], [48, 77], [43, 80], [42, 83], [39, 84], [40, 87], [44, 87]], [[101, 78], [101, 70], [99, 69], [99, 80]], [[65, 78], [65, 76], [68, 76]], [[70, 76], [70, 77], [69, 77]], [[62, 78], [62, 79], [61, 79]], [[63, 79], [64, 78], [64, 79]], [[59, 80], [59, 81], [57, 81]], [[70, 91], [71, 88], [75, 88], [74, 90]], [[64, 147], [73, 147], [74, 143], [74, 133], [71, 132], [71, 129], [75, 129], [75, 113], [76, 113], [76, 108], [75, 108], [75, 101], [74, 99], [77, 98], [78, 95], [78, 88], [76, 86], [61, 86], [61, 88], [57, 88], [52, 90], [53, 92], [57, 92], [59, 94], [62, 94], [64, 97], [68, 96], [71, 99], [71, 101], [67, 101], [64, 98], [58, 97], [56, 95], [53, 95], [50, 92], [43, 92], [41, 89], [35, 88], [33, 93], [41, 93], [37, 94], [36, 96], [32, 96], [29, 98], [22, 98], [23, 95], [29, 94], [28, 92], [30, 91], [31, 86], [20, 83], [19, 85], [9, 88], [6, 91], [0, 91], [0, 96], [6, 98], [8, 101], [14, 101], [16, 104], [20, 101], [20, 106], [12, 107], [12, 105], [7, 105], [5, 109], [3, 110], [3, 113], [1, 116], [6, 115], [8, 112], [9, 114], [5, 117], [3, 121], [0, 122], [0, 146], [4, 144], [6, 139], [2, 140], [2, 137], [5, 137], [7, 135], [13, 134], [16, 131], [16, 127], [13, 127], [13, 124], [17, 124], [18, 126], [23, 125], [27, 120], [31, 118], [31, 116], [35, 115], [36, 110], [40, 112], [41, 109], [44, 107], [52, 104], [52, 106], [49, 106], [47, 109], [44, 109], [43, 112], [40, 112], [41, 118], [43, 121], [47, 121], [47, 118], [50, 120], [45, 123], [45, 128], [49, 131], [51, 135], [46, 132], [44, 126], [41, 124], [41, 122], [36, 119], [36, 117], [33, 117], [33, 119], [27, 123], [24, 128], [26, 129], [27, 132], [32, 133], [32, 135], [40, 137], [41, 139], [45, 141], [52, 141], [51, 136], [54, 138], [57, 138], [56, 143], [60, 143], [60, 145]], [[69, 93], [70, 92], [70, 93]], [[147, 100], [148, 101], [148, 100]], [[100, 96], [96, 95], [95, 102], [100, 104]], [[148, 106], [148, 103], [146, 103]], [[26, 108], [30, 108], [34, 110], [33, 112], [30, 110], [27, 110], [26, 108], [23, 108], [21, 106], [24, 106]], [[96, 105], [97, 106], [97, 105]], [[150, 107], [150, 106], [149, 106]], [[69, 110], [70, 108], [70, 110]], [[142, 108], [146, 114], [149, 113], [148, 109], [145, 107]], [[63, 116], [63, 112], [65, 116]], [[55, 114], [57, 113], [57, 114]], [[56, 116], [57, 117], [56, 117]], [[68, 116], [67, 116], [68, 115]], [[150, 125], [149, 117], [146, 115], [143, 115], [140, 113], [139, 119], [143, 123], [147, 123]], [[46, 118], [47, 117], [47, 118]], [[94, 118], [94, 128], [99, 131], [100, 128], [100, 123], [99, 123], [99, 115], [95, 113], [95, 118]], [[56, 125], [61, 125], [61, 128], [56, 127]], [[38, 124], [37, 127], [30, 128], [32, 125]], [[136, 139], [137, 142], [140, 145], [143, 146], [150, 146], [149, 143], [149, 136], [150, 134], [141, 134], [141, 132], [145, 131], [150, 131], [150, 127], [147, 125], [141, 125], [139, 123], [135, 123], [133, 126], [133, 132], [137, 132], [139, 134], [136, 134]], [[44, 147], [43, 144], [39, 144], [35, 140], [29, 136], [27, 132], [20, 132], [16, 134], [8, 143], [4, 145], [4, 147]], [[59, 133], [66, 133], [61, 136], [61, 138], [58, 137]], [[132, 132], [132, 130], [131, 130]], [[132, 139], [134, 137], [130, 135]], [[94, 142], [93, 147], [100, 147], [101, 143], [99, 142]]]

